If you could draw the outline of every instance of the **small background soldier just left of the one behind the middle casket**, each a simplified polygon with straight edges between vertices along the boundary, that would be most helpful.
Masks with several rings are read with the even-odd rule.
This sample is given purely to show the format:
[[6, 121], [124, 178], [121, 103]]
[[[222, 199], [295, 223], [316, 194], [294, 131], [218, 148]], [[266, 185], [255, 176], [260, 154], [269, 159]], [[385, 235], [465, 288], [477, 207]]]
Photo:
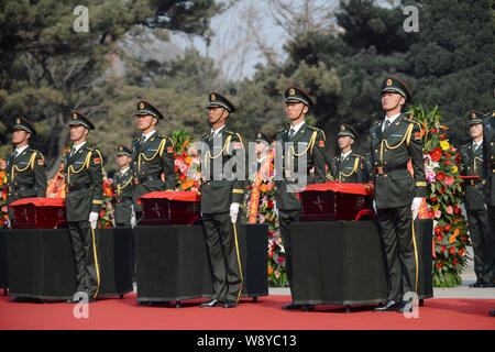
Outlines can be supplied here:
[[117, 148], [117, 162], [120, 170], [116, 173], [113, 180], [116, 191], [113, 215], [117, 227], [135, 226], [135, 218], [132, 221], [134, 215], [132, 211], [132, 191], [134, 184], [132, 183], [131, 161], [131, 151], [127, 146], [119, 145]]

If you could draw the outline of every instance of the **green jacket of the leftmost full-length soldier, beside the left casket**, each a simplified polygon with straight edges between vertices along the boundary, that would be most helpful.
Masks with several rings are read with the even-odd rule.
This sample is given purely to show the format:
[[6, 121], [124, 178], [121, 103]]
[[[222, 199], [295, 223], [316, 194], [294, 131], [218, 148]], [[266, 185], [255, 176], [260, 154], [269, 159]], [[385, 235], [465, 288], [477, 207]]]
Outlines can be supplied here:
[[88, 143], [69, 155], [63, 156], [67, 221], [88, 221], [89, 213], [99, 213], [103, 204], [103, 158]]

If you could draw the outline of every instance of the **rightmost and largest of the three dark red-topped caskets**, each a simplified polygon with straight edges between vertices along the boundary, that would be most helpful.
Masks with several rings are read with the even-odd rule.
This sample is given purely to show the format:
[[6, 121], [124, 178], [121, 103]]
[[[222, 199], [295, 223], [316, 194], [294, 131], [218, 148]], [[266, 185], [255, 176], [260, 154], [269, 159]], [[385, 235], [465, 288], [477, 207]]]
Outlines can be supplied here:
[[300, 221], [370, 220], [373, 187], [338, 182], [306, 187], [300, 194]]

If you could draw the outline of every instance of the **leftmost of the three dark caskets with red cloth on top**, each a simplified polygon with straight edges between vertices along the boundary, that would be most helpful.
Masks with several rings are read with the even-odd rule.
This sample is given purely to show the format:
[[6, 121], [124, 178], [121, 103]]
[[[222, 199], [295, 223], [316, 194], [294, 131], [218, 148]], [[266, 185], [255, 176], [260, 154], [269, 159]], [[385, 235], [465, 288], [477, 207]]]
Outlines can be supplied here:
[[24, 198], [13, 208], [12, 229], [57, 229], [66, 227], [65, 200], [62, 198]]

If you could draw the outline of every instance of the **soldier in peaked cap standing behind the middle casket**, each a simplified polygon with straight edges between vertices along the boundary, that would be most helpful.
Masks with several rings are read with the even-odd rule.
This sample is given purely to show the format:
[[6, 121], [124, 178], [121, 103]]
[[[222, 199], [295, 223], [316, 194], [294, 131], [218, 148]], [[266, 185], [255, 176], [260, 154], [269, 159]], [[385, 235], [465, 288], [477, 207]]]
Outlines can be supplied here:
[[[150, 102], [138, 102], [138, 130], [141, 138], [132, 141], [133, 201], [136, 219], [142, 207], [138, 199], [152, 191], [175, 190], [174, 145], [172, 140], [156, 131], [156, 124], [164, 117]], [[165, 175], [165, 183], [162, 180]]]

